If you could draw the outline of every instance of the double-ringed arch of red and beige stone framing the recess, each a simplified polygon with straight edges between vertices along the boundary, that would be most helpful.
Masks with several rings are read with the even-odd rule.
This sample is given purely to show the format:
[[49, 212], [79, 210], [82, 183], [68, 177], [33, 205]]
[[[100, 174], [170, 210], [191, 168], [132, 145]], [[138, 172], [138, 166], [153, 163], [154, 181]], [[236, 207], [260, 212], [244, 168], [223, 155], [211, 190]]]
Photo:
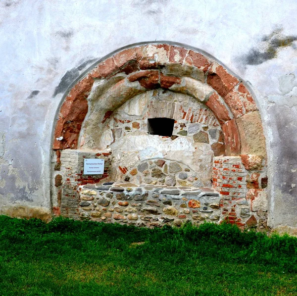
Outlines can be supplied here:
[[[56, 167], [61, 150], [98, 148], [102, 130], [98, 123], [103, 126], [114, 110], [129, 99], [160, 88], [189, 95], [205, 104], [221, 125], [225, 155], [241, 155], [246, 170], [263, 167], [266, 149], [261, 118], [245, 83], [198, 50], [163, 43], [138, 45], [115, 53], [70, 90], [54, 129]], [[263, 174], [259, 173], [259, 177]], [[252, 182], [259, 183], [249, 183]], [[251, 189], [262, 190], [261, 184], [254, 187]]]

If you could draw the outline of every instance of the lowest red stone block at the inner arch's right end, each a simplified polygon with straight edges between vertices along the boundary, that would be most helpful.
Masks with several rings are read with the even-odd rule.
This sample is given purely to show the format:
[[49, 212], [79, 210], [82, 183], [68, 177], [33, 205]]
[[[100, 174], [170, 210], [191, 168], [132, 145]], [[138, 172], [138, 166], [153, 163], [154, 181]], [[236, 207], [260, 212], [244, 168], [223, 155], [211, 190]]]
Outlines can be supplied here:
[[235, 120], [232, 119], [223, 124], [222, 130], [225, 138], [226, 155], [240, 154], [240, 136]]

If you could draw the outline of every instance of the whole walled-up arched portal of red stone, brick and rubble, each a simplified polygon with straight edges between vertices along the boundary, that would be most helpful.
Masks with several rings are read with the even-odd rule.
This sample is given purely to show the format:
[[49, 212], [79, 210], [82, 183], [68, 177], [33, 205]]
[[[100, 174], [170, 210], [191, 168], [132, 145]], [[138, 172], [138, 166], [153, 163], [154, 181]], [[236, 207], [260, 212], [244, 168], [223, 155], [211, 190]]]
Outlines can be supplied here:
[[[154, 118], [174, 120], [171, 137], [149, 133]], [[244, 82], [197, 50], [146, 44], [100, 62], [65, 98], [53, 150], [56, 213], [148, 226], [265, 226], [257, 106]], [[83, 175], [84, 158], [105, 158], [104, 174]], [[112, 191], [106, 181], [121, 186]]]

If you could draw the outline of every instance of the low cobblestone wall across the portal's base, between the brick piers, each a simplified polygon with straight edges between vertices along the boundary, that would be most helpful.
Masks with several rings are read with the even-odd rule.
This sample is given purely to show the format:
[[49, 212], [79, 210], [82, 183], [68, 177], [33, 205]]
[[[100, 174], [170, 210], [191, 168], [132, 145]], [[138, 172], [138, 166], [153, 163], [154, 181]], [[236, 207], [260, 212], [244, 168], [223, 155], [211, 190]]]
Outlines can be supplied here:
[[145, 227], [199, 225], [220, 219], [220, 195], [212, 189], [107, 182], [79, 190], [81, 219]]

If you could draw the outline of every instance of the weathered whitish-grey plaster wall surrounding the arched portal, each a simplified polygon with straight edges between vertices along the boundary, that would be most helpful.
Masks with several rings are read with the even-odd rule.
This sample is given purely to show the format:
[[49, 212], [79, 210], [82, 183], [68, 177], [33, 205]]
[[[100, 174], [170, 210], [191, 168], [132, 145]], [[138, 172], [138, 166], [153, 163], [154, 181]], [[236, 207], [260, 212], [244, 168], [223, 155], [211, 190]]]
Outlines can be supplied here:
[[50, 147], [67, 88], [121, 47], [202, 49], [250, 86], [268, 154], [268, 224], [297, 228], [297, 3], [123, 0], [0, 3], [0, 206], [50, 214]]

